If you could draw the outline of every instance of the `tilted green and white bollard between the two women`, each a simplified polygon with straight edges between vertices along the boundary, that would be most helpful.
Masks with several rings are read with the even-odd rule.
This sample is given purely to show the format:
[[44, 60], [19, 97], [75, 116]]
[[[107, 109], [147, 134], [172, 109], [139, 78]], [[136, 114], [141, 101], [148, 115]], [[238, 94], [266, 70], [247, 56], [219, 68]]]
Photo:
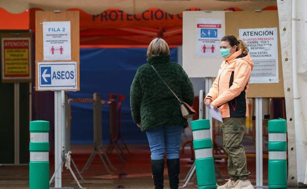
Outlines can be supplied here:
[[208, 119], [192, 121], [191, 128], [198, 189], [216, 189], [210, 121]]

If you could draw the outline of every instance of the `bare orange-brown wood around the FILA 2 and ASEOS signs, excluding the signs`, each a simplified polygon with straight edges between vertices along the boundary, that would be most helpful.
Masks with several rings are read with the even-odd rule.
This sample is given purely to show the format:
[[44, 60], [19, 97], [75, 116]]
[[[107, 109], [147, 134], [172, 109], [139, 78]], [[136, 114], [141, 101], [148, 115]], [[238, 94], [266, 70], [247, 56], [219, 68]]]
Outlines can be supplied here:
[[[70, 21], [71, 60], [44, 61], [43, 22]], [[77, 62], [77, 88], [80, 90], [80, 22], [79, 11], [36, 11], [35, 12], [35, 90], [38, 89], [37, 62]]]

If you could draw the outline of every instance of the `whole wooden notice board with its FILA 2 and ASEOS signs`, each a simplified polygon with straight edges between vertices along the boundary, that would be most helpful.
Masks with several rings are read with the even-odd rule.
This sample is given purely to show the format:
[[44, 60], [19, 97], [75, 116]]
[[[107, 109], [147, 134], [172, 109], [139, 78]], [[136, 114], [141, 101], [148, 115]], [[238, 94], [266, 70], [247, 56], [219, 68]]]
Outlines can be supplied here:
[[[54, 79], [57, 78], [70, 78], [74, 79], [76, 82], [76, 87], [73, 89], [66, 89], [67, 87], [64, 85], [60, 85], [59, 87], [54, 87], [54, 90], [70, 90], [70, 91], [77, 91], [80, 90], [80, 53], [79, 53], [79, 44], [80, 44], [80, 18], [79, 18], [79, 11], [36, 11], [35, 12], [35, 90], [44, 90], [43, 88], [39, 88], [39, 82], [42, 79], [46, 79], [48, 76], [48, 79]], [[52, 31], [57, 31], [58, 29], [61, 29], [61, 32], [63, 33], [64, 27], [62, 26], [69, 26], [69, 42], [70, 45], [70, 56], [65, 56], [65, 58], [46, 58], [46, 51], [44, 54], [44, 48], [46, 50], [46, 45], [44, 46], [44, 37], [43, 37], [43, 24], [46, 22], [61, 22], [59, 24], [59, 27], [51, 27]], [[70, 23], [69, 25], [63, 25], [64, 22]], [[50, 23], [48, 23], [50, 24]], [[61, 27], [60, 27], [61, 26]], [[45, 31], [44, 31], [45, 32]], [[64, 50], [63, 50], [64, 49]], [[59, 46], [58, 49], [56, 47], [50, 47], [50, 51], [52, 54], [65, 54], [65, 50], [67, 47], [65, 46]], [[68, 58], [67, 58], [68, 57]], [[69, 59], [70, 58], [70, 59]], [[75, 65], [74, 65], [75, 62]], [[53, 75], [50, 70], [45, 69], [42, 73], [42, 70], [40, 70], [38, 67], [41, 65], [45, 66], [45, 68], [62, 68], [69, 69], [69, 67], [75, 67], [76, 69], [76, 77], [70, 76], [68, 72], [61, 73], [60, 71], [57, 71], [57, 75]], [[59, 74], [58, 74], [59, 73]], [[66, 75], [68, 73], [68, 75]], [[42, 78], [42, 76], [45, 76]], [[47, 83], [47, 80], [45, 80]], [[58, 82], [62, 84], [63, 82]], [[44, 84], [44, 83], [43, 83]], [[50, 89], [51, 87], [47, 87], [47, 90], [53, 90]]]

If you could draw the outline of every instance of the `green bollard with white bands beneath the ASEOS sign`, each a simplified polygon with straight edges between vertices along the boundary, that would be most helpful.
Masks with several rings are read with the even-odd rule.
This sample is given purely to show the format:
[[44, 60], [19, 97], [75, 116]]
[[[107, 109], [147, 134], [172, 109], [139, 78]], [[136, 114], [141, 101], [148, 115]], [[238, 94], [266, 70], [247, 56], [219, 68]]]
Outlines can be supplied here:
[[49, 189], [49, 121], [30, 122], [30, 189]]

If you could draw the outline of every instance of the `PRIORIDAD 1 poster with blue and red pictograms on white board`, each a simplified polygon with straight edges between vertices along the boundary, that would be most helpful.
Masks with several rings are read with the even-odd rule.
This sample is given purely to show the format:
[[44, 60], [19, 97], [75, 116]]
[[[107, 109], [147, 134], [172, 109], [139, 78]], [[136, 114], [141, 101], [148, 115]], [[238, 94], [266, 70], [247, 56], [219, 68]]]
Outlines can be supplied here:
[[198, 57], [220, 57], [219, 43], [223, 20], [212, 18], [198, 18], [195, 25], [195, 54]]

